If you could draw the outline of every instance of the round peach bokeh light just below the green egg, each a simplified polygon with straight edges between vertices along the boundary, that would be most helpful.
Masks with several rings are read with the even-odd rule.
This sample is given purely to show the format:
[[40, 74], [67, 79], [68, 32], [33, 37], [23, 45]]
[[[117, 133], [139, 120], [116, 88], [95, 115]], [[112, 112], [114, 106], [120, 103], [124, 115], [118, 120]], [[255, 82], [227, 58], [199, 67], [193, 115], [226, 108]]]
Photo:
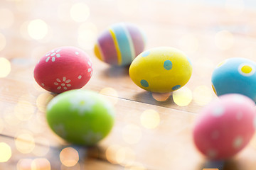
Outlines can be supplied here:
[[75, 166], [79, 161], [79, 154], [73, 147], [65, 147], [60, 152], [60, 162], [65, 166]]

